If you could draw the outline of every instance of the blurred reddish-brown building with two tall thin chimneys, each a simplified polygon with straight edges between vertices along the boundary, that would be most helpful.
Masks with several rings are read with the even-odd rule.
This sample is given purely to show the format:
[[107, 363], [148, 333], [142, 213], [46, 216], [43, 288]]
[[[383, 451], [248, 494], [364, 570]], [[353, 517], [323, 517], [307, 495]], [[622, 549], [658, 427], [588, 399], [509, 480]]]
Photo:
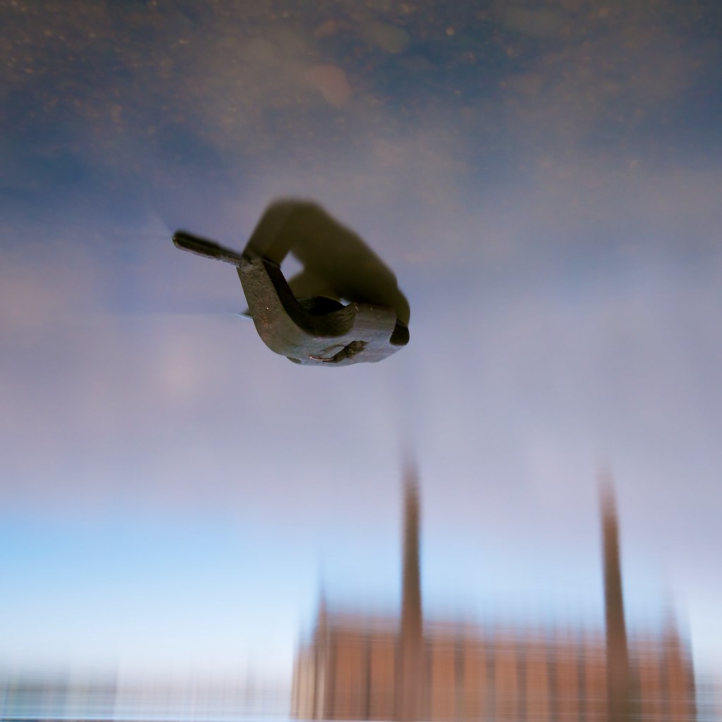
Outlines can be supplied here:
[[[696, 719], [690, 653], [670, 623], [627, 643], [617, 515], [603, 495], [606, 629], [422, 622], [417, 483], [406, 479], [401, 619], [336, 614], [321, 601], [298, 652], [297, 718], [345, 720]], [[612, 673], [609, 673], [612, 670]]]

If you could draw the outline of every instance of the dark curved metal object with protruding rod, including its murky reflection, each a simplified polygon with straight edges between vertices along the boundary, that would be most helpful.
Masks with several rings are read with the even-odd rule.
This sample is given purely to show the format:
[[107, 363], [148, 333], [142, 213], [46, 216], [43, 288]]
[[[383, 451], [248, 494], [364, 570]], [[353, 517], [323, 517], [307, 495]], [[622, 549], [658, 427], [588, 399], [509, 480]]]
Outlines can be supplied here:
[[[258, 335], [291, 361], [380, 361], [409, 342], [409, 303], [396, 277], [316, 204], [272, 204], [242, 254], [184, 231], [175, 233], [173, 243], [236, 266]], [[287, 282], [280, 266], [289, 252], [303, 271]]]

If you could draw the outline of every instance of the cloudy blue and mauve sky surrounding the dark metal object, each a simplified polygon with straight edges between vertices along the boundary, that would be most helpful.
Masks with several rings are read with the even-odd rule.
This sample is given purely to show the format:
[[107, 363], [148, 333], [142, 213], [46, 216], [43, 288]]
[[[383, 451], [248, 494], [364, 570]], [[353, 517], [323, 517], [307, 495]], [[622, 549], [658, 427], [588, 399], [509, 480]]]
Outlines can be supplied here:
[[[722, 13], [713, 2], [0, 5], [0, 667], [290, 675], [323, 589], [630, 625], [722, 669]], [[409, 299], [378, 364], [274, 355], [234, 269], [271, 201]]]

